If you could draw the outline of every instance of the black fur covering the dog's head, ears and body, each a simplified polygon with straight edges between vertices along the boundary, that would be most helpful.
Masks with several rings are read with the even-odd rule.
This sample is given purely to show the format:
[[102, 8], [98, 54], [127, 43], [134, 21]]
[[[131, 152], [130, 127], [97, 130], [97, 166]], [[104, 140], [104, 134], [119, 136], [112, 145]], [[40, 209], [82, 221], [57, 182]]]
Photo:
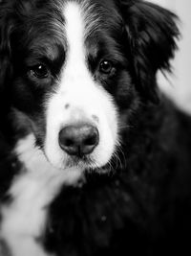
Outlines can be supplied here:
[[[87, 173], [82, 186], [63, 187], [50, 206], [42, 243], [57, 256], [189, 255], [191, 118], [159, 95], [156, 81], [159, 69], [170, 70], [169, 58], [179, 36], [177, 17], [139, 0], [92, 2], [102, 10], [105, 22], [101, 31], [87, 38], [89, 68], [117, 103], [122, 147], [119, 161], [112, 161], [113, 172]], [[11, 154], [17, 139], [32, 130], [36, 144], [43, 147], [41, 103], [52, 92], [65, 59], [51, 22], [62, 18], [52, 1], [0, 2], [2, 201], [8, 199], [11, 180], [21, 170]], [[31, 55], [39, 56], [50, 36], [43, 31], [44, 24], [53, 50], [61, 56], [55, 53], [49, 59], [54, 76], [46, 81], [46, 91], [26, 76]], [[38, 35], [38, 50], [33, 53]], [[115, 77], [97, 73], [97, 45], [99, 55], [104, 52], [117, 60]], [[15, 114], [15, 109], [25, 115]]]

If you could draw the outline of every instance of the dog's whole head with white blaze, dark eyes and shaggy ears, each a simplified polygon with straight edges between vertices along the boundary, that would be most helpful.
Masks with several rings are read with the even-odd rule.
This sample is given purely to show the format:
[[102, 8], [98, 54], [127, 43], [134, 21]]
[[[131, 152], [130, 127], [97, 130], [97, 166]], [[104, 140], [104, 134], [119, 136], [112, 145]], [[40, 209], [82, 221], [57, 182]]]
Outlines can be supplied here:
[[157, 99], [173, 14], [128, 0], [12, 0], [1, 10], [1, 86], [37, 146], [56, 168], [108, 164], [132, 110]]

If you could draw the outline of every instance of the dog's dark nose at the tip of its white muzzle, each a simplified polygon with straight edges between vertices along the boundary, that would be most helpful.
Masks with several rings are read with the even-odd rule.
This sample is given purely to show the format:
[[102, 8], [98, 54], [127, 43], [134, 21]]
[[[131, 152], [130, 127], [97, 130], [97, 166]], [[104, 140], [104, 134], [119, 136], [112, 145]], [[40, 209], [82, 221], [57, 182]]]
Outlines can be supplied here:
[[98, 130], [92, 125], [73, 125], [59, 132], [59, 145], [71, 155], [89, 154], [98, 144]]

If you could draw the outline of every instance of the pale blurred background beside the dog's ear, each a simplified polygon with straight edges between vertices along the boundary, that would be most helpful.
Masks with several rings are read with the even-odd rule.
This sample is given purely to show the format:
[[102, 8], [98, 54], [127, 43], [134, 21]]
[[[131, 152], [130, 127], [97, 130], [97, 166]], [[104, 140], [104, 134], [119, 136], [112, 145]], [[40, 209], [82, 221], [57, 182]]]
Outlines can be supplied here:
[[180, 107], [191, 112], [191, 0], [148, 0], [180, 17], [179, 51], [172, 60], [173, 74], [165, 79], [159, 73], [159, 86]]

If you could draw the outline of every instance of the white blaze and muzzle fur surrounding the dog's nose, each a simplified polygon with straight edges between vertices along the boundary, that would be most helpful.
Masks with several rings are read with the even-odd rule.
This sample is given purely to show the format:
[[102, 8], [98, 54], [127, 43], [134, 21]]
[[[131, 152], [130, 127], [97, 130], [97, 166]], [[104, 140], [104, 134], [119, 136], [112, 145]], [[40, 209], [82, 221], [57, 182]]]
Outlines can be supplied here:
[[110, 160], [117, 145], [117, 109], [87, 67], [84, 20], [88, 13], [79, 4], [68, 2], [63, 14], [68, 49], [58, 87], [47, 103], [45, 153], [55, 167], [66, 168], [72, 158], [59, 147], [59, 131], [71, 124], [88, 123], [98, 129], [99, 143], [89, 155], [94, 164], [88, 166], [79, 161], [78, 167], [101, 167]]

